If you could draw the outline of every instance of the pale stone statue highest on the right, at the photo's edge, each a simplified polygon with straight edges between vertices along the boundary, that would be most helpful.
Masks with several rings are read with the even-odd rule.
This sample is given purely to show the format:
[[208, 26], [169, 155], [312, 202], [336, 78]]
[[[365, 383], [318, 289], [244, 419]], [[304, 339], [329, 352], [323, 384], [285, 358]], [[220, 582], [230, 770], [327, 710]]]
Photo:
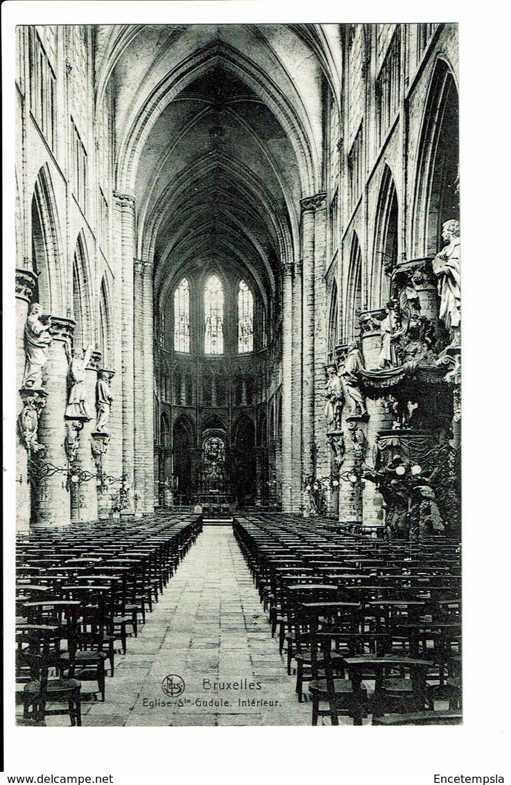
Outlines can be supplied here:
[[462, 320], [461, 294], [461, 251], [459, 221], [446, 221], [442, 227], [442, 239], [446, 243], [440, 254], [433, 259], [433, 273], [438, 279], [440, 295], [440, 319], [451, 330], [453, 344], [459, 344], [459, 329]]

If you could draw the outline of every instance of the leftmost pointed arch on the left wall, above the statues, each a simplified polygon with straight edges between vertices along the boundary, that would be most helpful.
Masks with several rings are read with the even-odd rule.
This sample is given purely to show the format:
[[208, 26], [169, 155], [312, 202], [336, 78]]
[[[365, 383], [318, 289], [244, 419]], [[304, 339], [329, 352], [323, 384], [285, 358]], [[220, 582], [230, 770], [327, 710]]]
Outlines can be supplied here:
[[62, 242], [47, 164], [35, 179], [31, 201], [31, 256], [37, 285], [34, 296], [47, 313], [64, 314], [67, 276], [62, 263]]

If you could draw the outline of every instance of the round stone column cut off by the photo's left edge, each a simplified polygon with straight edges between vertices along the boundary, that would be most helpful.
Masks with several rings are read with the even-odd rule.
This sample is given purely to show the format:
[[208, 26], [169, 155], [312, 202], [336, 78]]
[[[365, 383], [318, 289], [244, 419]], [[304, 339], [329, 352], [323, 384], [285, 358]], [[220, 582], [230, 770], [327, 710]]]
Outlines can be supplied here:
[[[28, 262], [28, 264], [30, 264]], [[28, 303], [35, 287], [31, 269], [16, 269], [16, 389], [21, 389], [25, 369], [24, 329]], [[16, 419], [24, 408], [24, 397], [16, 401]], [[31, 488], [28, 482], [27, 462], [30, 451], [24, 444], [20, 426], [16, 423], [16, 528], [27, 531], [31, 517]]]

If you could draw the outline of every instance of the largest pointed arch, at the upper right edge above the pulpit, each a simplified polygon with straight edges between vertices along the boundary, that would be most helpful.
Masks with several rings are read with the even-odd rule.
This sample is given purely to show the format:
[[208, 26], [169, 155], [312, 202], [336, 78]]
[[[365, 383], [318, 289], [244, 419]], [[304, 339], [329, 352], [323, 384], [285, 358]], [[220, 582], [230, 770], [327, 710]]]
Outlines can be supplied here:
[[416, 257], [434, 256], [441, 247], [444, 221], [459, 220], [458, 89], [446, 60], [436, 62], [425, 104], [419, 141], [413, 244]]

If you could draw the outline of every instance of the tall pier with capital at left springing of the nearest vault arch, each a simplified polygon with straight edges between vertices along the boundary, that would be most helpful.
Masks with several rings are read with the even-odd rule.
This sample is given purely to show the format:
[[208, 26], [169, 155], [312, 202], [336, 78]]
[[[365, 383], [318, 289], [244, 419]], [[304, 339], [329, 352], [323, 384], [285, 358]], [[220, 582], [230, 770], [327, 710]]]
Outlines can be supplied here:
[[[122, 475], [126, 487], [133, 490], [135, 447], [133, 434], [134, 418], [134, 363], [133, 363], [133, 259], [134, 259], [134, 214], [135, 197], [114, 191], [115, 220], [119, 222], [121, 256], [121, 383], [122, 383]], [[130, 493], [124, 509], [126, 514], [133, 511], [133, 493]]]

